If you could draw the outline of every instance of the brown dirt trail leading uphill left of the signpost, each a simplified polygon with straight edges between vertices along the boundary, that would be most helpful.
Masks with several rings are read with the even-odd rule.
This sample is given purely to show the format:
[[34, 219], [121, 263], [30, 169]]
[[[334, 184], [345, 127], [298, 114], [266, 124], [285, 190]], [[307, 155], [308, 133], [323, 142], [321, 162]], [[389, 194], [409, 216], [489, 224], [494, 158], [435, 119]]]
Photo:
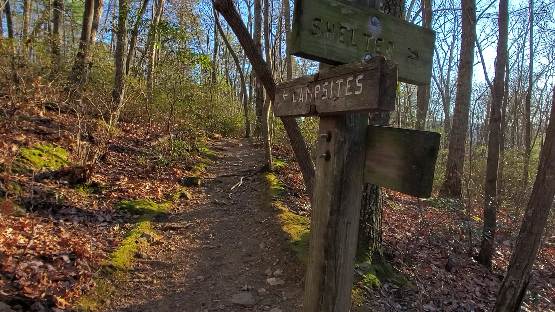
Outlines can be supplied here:
[[[231, 301], [238, 293], [254, 296], [249, 308], [254, 311], [302, 309], [302, 266], [266, 202], [264, 179], [245, 177], [238, 192], [229, 195], [246, 171], [261, 164], [261, 150], [249, 140], [220, 139], [212, 145], [219, 159], [200, 188], [189, 188], [194, 198], [181, 199], [168, 215], [155, 219], [163, 244], [144, 253], [162, 262], [151, 261], [117, 281], [108, 311], [246, 310]], [[172, 225], [180, 228], [166, 230]], [[278, 278], [285, 284], [269, 285], [268, 269], [281, 269], [284, 275]], [[248, 290], [241, 290], [245, 285]], [[260, 296], [260, 288], [268, 294]]]

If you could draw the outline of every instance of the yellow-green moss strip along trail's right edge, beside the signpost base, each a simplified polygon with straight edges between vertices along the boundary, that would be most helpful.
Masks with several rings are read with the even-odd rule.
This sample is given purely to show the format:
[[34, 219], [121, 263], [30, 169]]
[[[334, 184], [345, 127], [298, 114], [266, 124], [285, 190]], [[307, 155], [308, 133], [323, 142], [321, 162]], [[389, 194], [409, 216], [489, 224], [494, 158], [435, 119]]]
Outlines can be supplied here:
[[[276, 161], [273, 162], [274, 166]], [[284, 163], [281, 163], [284, 165]], [[309, 245], [310, 219], [301, 215], [294, 214], [281, 205], [279, 200], [284, 189], [284, 184], [279, 182], [274, 173], [265, 173], [264, 178], [268, 183], [266, 193], [271, 198], [270, 206], [278, 212], [278, 220], [281, 229], [290, 237], [290, 248], [295, 251], [299, 260], [306, 263]]]

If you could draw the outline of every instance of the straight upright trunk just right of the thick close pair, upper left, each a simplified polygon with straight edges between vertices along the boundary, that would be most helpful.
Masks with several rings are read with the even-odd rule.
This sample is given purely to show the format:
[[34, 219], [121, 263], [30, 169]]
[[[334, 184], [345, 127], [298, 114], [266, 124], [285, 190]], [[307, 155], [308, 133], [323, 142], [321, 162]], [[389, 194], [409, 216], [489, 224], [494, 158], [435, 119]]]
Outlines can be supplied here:
[[125, 90], [125, 55], [127, 54], [127, 15], [129, 12], [128, 0], [119, 0], [118, 28], [115, 39], [115, 74], [114, 88], [112, 89], [112, 107], [110, 119], [117, 122], [122, 108], [122, 99]]

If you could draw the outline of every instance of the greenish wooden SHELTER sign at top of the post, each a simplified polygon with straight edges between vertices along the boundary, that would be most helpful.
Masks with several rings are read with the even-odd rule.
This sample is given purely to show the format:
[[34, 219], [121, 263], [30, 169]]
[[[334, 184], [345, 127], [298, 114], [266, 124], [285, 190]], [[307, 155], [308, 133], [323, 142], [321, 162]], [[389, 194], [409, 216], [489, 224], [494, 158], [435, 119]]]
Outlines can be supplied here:
[[347, 0], [295, 0], [291, 54], [331, 65], [378, 55], [399, 80], [430, 84], [435, 32]]

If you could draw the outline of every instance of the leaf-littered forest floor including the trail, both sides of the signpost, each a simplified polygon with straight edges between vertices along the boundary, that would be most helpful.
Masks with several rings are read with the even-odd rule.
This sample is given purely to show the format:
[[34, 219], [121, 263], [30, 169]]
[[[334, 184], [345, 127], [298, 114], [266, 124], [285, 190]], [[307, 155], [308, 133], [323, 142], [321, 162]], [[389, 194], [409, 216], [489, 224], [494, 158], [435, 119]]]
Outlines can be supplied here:
[[[79, 184], [70, 155], [81, 121], [32, 106], [0, 127], [0, 312], [302, 310], [310, 205], [289, 150], [275, 147], [263, 173], [252, 140], [188, 137], [184, 164], [164, 156], [162, 126], [145, 135], [122, 123], [92, 183]], [[355, 310], [491, 309], [517, 223], [499, 214], [491, 272], [468, 256], [480, 215], [388, 192], [388, 263], [357, 263]], [[523, 310], [554, 311], [553, 298], [548, 233]]]

